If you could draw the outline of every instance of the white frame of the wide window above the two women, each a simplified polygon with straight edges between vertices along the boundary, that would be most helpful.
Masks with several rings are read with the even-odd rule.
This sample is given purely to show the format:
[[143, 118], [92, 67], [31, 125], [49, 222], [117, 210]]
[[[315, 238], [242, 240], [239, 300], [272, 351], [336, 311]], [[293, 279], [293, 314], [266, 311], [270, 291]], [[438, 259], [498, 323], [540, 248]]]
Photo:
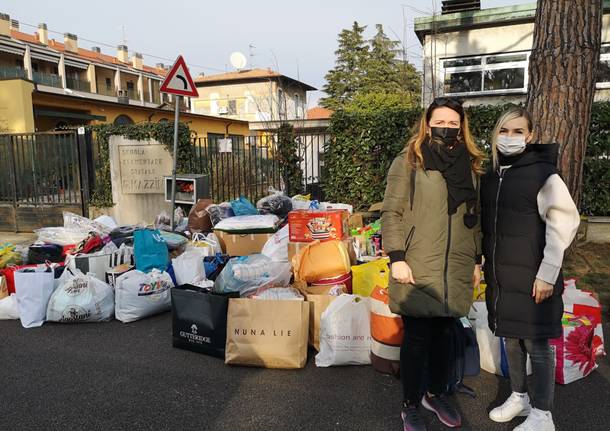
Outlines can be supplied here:
[[[513, 55], [525, 54], [525, 60], [522, 61], [509, 61], [506, 63], [487, 64], [488, 57], [508, 57]], [[506, 52], [501, 54], [487, 54], [487, 55], [475, 55], [471, 57], [448, 57], [441, 58], [440, 70], [441, 76], [443, 77], [443, 91], [445, 86], [445, 78], [447, 74], [452, 73], [463, 73], [463, 72], [480, 72], [481, 73], [481, 90], [480, 91], [465, 91], [465, 92], [447, 92], [444, 93], [446, 96], [483, 96], [483, 95], [494, 95], [494, 94], [525, 94], [527, 93], [527, 86], [529, 81], [529, 58], [530, 51], [515, 51]], [[480, 59], [481, 64], [475, 66], [461, 66], [461, 67], [447, 67], [445, 68], [446, 61], [455, 60], [472, 60]], [[502, 69], [524, 69], [523, 87], [522, 88], [508, 88], [500, 90], [484, 90], [485, 85], [485, 72], [490, 70], [502, 70]]]

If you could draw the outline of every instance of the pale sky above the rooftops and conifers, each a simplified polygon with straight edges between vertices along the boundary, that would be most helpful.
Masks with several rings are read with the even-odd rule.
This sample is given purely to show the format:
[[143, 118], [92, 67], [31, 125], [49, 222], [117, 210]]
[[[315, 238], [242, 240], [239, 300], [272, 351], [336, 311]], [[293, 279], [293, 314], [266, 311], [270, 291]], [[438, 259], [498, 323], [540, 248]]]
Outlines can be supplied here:
[[[528, 0], [482, 0], [482, 8], [529, 3]], [[130, 55], [144, 54], [148, 65], [172, 64], [182, 54], [192, 75], [231, 71], [229, 57], [242, 52], [246, 68], [270, 67], [318, 89], [334, 65], [337, 35], [354, 21], [383, 24], [388, 36], [407, 47], [409, 60], [421, 66], [421, 44], [413, 20], [440, 11], [440, 0], [2, 0], [0, 13], [33, 33], [44, 22], [49, 37], [63, 41], [76, 34], [79, 46], [100, 46], [116, 55], [126, 44]], [[28, 25], [29, 24], [29, 25]], [[30, 26], [31, 25], [31, 26]], [[57, 33], [53, 33], [57, 32]], [[86, 40], [85, 40], [86, 39]], [[315, 106], [321, 92], [308, 95]]]

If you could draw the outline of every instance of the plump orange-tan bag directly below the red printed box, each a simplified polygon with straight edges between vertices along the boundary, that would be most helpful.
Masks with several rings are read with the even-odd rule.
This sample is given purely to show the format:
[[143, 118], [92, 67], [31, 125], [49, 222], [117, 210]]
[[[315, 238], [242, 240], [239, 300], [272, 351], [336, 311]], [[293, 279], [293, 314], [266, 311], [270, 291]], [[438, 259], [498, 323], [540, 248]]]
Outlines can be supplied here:
[[350, 272], [347, 247], [342, 241], [314, 241], [292, 258], [294, 279], [312, 283]]

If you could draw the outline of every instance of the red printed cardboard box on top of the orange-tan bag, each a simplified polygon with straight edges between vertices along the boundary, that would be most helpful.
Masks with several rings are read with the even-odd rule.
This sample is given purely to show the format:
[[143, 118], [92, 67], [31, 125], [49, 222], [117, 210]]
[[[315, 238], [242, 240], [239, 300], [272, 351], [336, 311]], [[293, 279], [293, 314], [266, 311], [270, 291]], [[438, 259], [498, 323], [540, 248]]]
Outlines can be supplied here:
[[348, 234], [347, 210], [295, 210], [288, 213], [290, 241], [311, 242], [345, 239]]

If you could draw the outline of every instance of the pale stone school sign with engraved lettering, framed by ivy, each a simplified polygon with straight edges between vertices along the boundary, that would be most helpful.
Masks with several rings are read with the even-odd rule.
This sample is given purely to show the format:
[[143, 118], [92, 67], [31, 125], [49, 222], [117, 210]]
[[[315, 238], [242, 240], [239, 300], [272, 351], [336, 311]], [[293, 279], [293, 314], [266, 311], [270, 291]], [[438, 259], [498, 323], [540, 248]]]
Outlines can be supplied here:
[[115, 203], [110, 215], [120, 224], [150, 224], [162, 211], [170, 212], [163, 177], [172, 172], [172, 156], [165, 145], [122, 136], [111, 136], [108, 144]]

